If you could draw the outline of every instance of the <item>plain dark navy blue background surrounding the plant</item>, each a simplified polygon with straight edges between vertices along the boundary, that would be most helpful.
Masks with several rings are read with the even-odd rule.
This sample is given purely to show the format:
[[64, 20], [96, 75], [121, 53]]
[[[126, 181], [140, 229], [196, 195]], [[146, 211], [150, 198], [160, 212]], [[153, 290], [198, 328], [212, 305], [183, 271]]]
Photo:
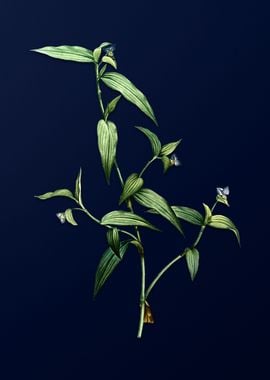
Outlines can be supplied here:
[[[267, 377], [269, 341], [269, 28], [255, 1], [2, 2], [1, 32], [1, 379], [227, 379]], [[207, 231], [192, 284], [184, 263], [153, 291], [156, 324], [136, 339], [139, 260], [130, 249], [95, 302], [104, 231], [77, 216], [61, 225], [68, 200], [33, 198], [72, 188], [80, 166], [88, 207], [117, 207], [96, 148], [92, 66], [30, 53], [45, 45], [117, 44], [119, 71], [148, 96], [160, 127], [122, 101], [119, 162], [125, 176], [150, 157], [133, 126], [163, 142], [183, 138], [183, 163], [148, 187], [201, 209], [230, 185], [240, 229]], [[153, 221], [159, 223], [158, 218]], [[187, 242], [161, 222], [143, 231], [148, 278]], [[196, 231], [195, 231], [196, 232]]]

